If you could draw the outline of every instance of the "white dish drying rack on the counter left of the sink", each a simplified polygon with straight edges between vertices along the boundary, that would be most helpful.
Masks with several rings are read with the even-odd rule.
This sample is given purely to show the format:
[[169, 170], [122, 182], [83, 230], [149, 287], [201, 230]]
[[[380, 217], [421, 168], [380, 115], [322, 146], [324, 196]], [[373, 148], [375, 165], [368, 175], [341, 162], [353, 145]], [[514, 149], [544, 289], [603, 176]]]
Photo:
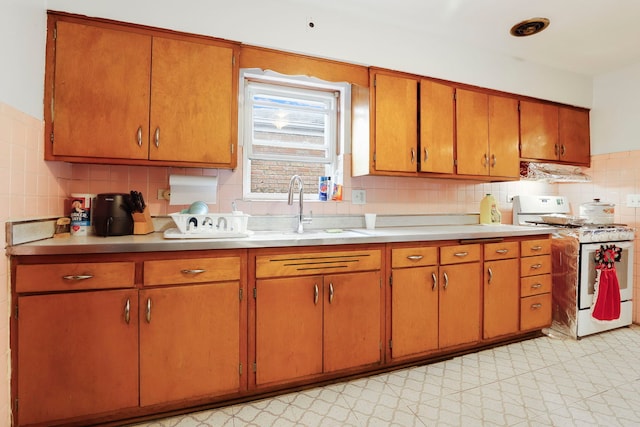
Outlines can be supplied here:
[[249, 215], [246, 214], [169, 214], [177, 228], [170, 228], [164, 232], [168, 239], [227, 239], [233, 237], [247, 237], [251, 231], [247, 230]]

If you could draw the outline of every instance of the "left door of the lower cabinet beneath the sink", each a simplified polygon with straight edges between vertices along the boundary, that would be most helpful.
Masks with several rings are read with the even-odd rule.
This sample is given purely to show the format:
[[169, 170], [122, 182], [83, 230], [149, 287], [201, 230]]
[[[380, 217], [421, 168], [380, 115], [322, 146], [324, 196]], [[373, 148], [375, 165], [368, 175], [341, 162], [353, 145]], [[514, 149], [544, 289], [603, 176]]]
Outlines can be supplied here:
[[256, 283], [256, 384], [322, 372], [322, 277]]

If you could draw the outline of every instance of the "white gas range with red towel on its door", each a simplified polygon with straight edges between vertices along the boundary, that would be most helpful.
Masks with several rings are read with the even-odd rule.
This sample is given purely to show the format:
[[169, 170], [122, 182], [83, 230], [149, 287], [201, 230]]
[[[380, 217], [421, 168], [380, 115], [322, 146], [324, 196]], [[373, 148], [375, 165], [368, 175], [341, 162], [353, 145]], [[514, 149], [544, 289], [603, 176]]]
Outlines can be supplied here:
[[[635, 230], [623, 224], [587, 224], [570, 214], [569, 202], [562, 196], [521, 195], [513, 200], [515, 225], [535, 227], [544, 224], [557, 228], [552, 239], [552, 329], [580, 338], [630, 325]], [[566, 221], [562, 222], [566, 223], [549, 224], [545, 221], [549, 218], [564, 218]], [[620, 289], [620, 306], [617, 318], [602, 320], [594, 314], [593, 305], [595, 283], [600, 280], [596, 255], [606, 248], [620, 252], [619, 260], [613, 263]]]

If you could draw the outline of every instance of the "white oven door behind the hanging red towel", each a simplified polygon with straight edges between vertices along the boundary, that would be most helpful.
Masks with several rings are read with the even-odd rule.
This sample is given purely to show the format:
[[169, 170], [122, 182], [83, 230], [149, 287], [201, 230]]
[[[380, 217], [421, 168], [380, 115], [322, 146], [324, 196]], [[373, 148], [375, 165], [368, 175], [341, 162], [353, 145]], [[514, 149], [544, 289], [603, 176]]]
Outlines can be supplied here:
[[622, 248], [620, 262], [615, 265], [620, 284], [620, 300], [630, 301], [633, 295], [633, 242], [601, 242], [580, 245], [580, 280], [578, 304], [581, 310], [593, 304], [593, 288], [596, 280], [596, 262], [594, 259], [600, 245], [616, 245]]

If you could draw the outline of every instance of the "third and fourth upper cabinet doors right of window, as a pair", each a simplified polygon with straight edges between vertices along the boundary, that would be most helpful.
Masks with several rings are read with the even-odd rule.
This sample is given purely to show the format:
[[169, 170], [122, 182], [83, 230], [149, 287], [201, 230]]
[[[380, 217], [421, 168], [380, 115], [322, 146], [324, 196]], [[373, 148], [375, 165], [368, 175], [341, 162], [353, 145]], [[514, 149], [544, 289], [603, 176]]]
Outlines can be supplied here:
[[466, 89], [456, 91], [457, 171], [518, 178], [518, 101]]

